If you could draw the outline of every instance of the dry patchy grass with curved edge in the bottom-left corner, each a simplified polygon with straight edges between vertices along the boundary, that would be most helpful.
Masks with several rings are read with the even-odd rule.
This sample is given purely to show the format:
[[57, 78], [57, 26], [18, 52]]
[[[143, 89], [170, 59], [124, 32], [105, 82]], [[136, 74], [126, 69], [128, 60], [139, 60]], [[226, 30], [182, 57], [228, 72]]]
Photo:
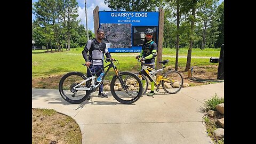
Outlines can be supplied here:
[[75, 120], [53, 109], [32, 109], [32, 143], [82, 143]]

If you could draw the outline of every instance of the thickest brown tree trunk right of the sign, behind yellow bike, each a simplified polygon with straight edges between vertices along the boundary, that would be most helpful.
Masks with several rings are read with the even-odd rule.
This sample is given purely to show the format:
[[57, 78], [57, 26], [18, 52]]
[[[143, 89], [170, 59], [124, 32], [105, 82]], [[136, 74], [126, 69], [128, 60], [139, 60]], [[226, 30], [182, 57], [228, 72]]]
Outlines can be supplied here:
[[194, 6], [192, 9], [192, 15], [193, 15], [193, 19], [191, 20], [191, 34], [190, 34], [190, 41], [189, 41], [189, 49], [188, 49], [188, 56], [187, 56], [187, 64], [186, 64], [186, 68], [185, 71], [188, 71], [188, 69], [190, 68], [191, 65], [191, 53], [192, 53], [192, 47], [193, 47], [193, 34], [194, 34], [194, 23], [195, 23], [195, 13], [196, 13], [196, 0], [194, 0]]

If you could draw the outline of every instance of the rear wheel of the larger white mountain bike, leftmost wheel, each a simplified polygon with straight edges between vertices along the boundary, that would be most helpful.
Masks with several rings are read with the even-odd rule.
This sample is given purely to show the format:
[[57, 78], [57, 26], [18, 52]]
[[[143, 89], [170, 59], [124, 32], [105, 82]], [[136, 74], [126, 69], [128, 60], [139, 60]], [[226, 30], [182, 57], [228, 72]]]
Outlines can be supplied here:
[[[91, 91], [72, 89], [75, 85], [81, 83], [85, 79], [87, 79], [87, 77], [83, 73], [77, 71], [72, 71], [62, 76], [59, 82], [59, 92], [61, 97], [72, 104], [78, 104], [85, 101], [90, 96]], [[80, 86], [91, 87], [91, 84], [86, 82], [86, 85], [84, 84]]]

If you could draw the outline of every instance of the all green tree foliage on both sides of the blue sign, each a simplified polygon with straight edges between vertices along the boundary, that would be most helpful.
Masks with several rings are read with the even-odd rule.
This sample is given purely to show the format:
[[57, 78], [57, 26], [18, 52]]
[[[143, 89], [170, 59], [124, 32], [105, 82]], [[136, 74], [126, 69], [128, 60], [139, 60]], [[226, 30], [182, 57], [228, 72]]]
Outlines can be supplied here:
[[[158, 11], [164, 15], [163, 47], [220, 47], [224, 42], [224, 2], [218, 0], [105, 0], [112, 11]], [[196, 2], [196, 3], [195, 3]], [[179, 3], [179, 8], [177, 8]], [[193, 7], [195, 14], [192, 14]], [[84, 46], [87, 35], [77, 20], [76, 0], [38, 0], [33, 5], [36, 20], [32, 36], [37, 44], [54, 47], [57, 51]], [[179, 9], [177, 11], [177, 9]], [[179, 12], [179, 17], [177, 17]], [[177, 20], [179, 18], [179, 20]], [[179, 22], [179, 28], [177, 27]], [[192, 27], [191, 23], [194, 22]], [[178, 36], [178, 38], [177, 38]], [[94, 33], [89, 30], [89, 38]], [[178, 40], [177, 40], [178, 39]]]

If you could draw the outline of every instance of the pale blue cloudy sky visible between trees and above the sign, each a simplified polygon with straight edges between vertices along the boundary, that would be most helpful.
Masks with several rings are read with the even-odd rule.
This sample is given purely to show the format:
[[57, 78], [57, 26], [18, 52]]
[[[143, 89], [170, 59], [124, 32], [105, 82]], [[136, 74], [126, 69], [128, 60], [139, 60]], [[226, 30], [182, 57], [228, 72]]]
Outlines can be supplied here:
[[[219, 4], [224, 0], [220, 0]], [[32, 3], [38, 2], [38, 0], [32, 0]], [[78, 18], [81, 19], [81, 24], [84, 25], [86, 29], [86, 20], [85, 20], [85, 0], [77, 0], [78, 3]], [[86, 0], [86, 13], [87, 13], [87, 27], [89, 30], [94, 31], [93, 23], [93, 10], [96, 6], [99, 6], [99, 11], [110, 11], [110, 8], [104, 3], [104, 0]], [[35, 15], [32, 14], [32, 20], [35, 20]]]

